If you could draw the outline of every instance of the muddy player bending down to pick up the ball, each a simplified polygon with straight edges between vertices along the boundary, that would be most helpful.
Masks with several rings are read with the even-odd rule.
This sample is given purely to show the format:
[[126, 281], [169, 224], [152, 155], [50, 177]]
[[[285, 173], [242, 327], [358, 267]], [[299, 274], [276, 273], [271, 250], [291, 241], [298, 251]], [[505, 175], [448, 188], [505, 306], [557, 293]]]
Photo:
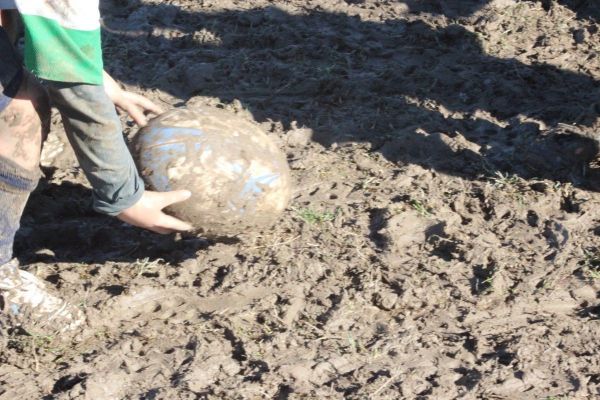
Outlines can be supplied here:
[[[92, 185], [95, 210], [158, 233], [185, 231], [189, 224], [161, 210], [190, 192], [144, 190], [114, 106], [141, 126], [146, 112], [161, 110], [123, 91], [103, 71], [98, 0], [0, 0], [0, 9], [0, 318], [26, 330], [64, 332], [83, 323], [81, 311], [48, 293], [12, 258], [21, 214], [40, 175], [49, 102]], [[27, 71], [11, 43], [17, 10]]]

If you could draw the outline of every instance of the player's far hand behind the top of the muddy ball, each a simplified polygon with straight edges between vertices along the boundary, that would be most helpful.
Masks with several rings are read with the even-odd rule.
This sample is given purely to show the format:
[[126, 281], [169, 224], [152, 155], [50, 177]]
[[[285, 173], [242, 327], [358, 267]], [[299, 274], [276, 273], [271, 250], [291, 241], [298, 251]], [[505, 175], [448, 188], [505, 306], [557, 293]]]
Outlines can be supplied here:
[[104, 90], [112, 102], [126, 111], [139, 126], [148, 123], [147, 113], [161, 114], [163, 110], [144, 96], [127, 92], [115, 80], [104, 72]]

